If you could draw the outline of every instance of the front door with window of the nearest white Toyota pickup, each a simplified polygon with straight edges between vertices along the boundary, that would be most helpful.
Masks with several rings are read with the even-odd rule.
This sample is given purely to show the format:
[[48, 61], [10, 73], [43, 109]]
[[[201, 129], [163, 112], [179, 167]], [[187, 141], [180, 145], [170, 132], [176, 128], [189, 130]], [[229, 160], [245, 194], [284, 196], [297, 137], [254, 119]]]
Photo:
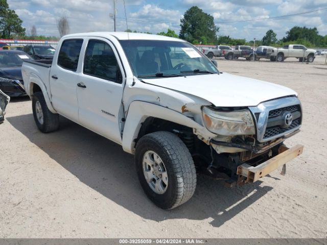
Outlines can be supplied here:
[[90, 38], [85, 46], [82, 74], [75, 81], [79, 84], [79, 121], [88, 129], [121, 143], [125, 75], [118, 53], [105, 38]]

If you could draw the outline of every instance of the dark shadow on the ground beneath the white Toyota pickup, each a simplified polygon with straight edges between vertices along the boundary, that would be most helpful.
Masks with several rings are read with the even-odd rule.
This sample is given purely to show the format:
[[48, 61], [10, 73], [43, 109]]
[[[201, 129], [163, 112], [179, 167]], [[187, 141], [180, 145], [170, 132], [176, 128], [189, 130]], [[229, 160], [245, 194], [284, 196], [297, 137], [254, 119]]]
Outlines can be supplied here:
[[212, 226], [220, 227], [272, 189], [260, 186], [260, 181], [227, 188], [223, 181], [199, 175], [197, 189], [188, 203], [173, 210], [161, 210], [147, 199], [134, 171], [133, 156], [120, 145], [63, 117], [60, 129], [49, 134], [38, 131], [32, 114], [6, 119], [81, 182], [144, 219], [159, 222], [209, 218]]

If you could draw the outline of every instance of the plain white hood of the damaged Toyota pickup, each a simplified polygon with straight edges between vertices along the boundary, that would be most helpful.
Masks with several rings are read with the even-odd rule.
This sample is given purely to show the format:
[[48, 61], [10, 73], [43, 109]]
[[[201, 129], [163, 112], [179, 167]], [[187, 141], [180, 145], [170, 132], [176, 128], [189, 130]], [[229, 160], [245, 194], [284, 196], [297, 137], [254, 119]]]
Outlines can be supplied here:
[[148, 84], [192, 94], [219, 107], [256, 106], [264, 101], [297, 95], [287, 87], [227, 73], [143, 79]]

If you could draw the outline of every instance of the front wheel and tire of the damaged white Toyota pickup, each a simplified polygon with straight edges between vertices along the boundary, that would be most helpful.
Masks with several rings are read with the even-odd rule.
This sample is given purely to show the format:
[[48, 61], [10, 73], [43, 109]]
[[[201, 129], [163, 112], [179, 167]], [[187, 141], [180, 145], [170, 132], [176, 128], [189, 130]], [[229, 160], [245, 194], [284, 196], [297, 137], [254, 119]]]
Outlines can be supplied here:
[[144, 192], [162, 209], [176, 208], [194, 194], [196, 170], [192, 156], [173, 133], [160, 131], [139, 139], [135, 165]]

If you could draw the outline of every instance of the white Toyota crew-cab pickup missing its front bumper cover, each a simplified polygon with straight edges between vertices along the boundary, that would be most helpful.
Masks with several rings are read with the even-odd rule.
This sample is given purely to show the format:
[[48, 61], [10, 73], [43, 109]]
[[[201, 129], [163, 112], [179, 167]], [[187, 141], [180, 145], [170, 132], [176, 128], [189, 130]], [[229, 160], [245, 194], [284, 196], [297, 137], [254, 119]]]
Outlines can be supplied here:
[[302, 152], [283, 143], [301, 126], [295, 91], [220, 72], [186, 41], [72, 34], [44, 62], [22, 65], [39, 130], [57, 130], [62, 115], [121, 144], [161, 208], [188, 201], [197, 173], [242, 185]]

